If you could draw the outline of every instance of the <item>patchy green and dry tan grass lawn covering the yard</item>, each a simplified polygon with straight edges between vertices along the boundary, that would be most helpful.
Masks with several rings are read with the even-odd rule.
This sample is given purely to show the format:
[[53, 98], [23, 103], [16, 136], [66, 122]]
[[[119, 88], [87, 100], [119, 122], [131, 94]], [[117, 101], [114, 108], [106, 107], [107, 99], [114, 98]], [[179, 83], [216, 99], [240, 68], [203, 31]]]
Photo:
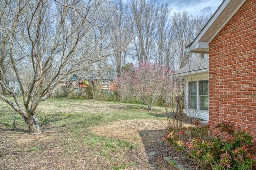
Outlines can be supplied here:
[[37, 113], [44, 133], [29, 135], [0, 101], [0, 169], [168, 169], [152, 164], [145, 150], [165, 133], [162, 107], [62, 98], [42, 102]]

